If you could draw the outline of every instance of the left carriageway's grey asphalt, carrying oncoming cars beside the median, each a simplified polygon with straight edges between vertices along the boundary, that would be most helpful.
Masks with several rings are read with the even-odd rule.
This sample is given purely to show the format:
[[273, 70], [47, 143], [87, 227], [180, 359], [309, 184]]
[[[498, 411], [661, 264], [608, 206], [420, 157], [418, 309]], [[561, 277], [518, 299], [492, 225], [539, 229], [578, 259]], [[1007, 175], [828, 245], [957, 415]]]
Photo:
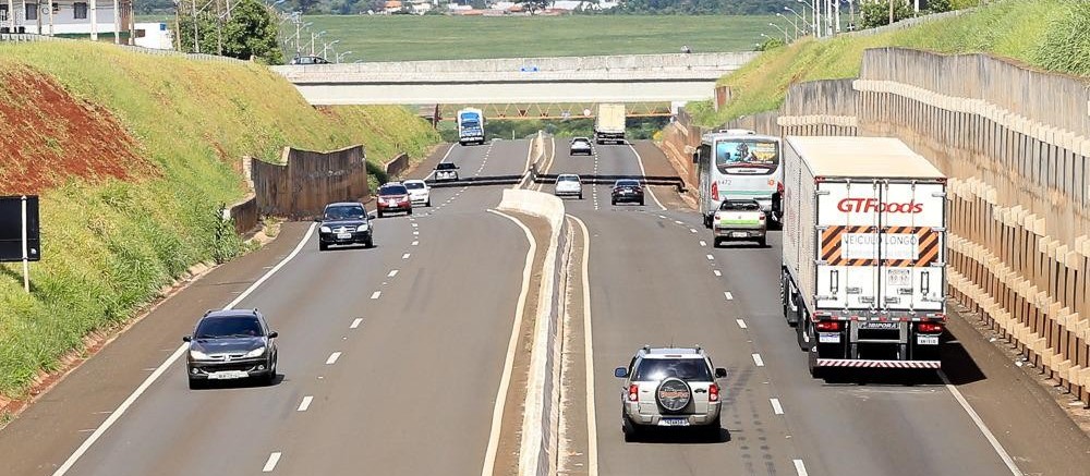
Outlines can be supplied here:
[[312, 239], [240, 303], [281, 333], [277, 385], [190, 391], [174, 365], [68, 474], [480, 474], [526, 245], [481, 212], [498, 188], [436, 192], [446, 208], [377, 220], [375, 249]]

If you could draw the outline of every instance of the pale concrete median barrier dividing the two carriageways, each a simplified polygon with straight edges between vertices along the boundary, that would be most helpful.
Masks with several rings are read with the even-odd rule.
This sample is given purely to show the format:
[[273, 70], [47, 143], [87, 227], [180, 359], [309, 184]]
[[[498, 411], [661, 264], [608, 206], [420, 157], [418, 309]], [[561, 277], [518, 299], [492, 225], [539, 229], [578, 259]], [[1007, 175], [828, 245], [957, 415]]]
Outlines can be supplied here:
[[505, 190], [497, 207], [501, 211], [540, 217], [548, 222], [549, 242], [542, 267], [538, 301], [532, 338], [526, 396], [523, 404], [519, 444], [520, 476], [556, 474], [557, 431], [560, 400], [560, 305], [562, 286], [560, 263], [568, 255], [564, 203], [550, 195], [528, 190]]

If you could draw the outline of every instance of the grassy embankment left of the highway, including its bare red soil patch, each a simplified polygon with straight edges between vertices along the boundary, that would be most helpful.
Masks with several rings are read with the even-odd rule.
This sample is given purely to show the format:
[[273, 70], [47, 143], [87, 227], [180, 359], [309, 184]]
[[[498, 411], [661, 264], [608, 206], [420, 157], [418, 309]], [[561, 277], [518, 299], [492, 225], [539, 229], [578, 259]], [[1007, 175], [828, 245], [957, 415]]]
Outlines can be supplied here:
[[0, 195], [40, 193], [43, 223], [33, 293], [0, 266], [0, 407], [189, 266], [244, 251], [219, 219], [242, 156], [362, 143], [374, 172], [439, 139], [399, 107], [314, 109], [257, 64], [40, 42], [0, 44]]

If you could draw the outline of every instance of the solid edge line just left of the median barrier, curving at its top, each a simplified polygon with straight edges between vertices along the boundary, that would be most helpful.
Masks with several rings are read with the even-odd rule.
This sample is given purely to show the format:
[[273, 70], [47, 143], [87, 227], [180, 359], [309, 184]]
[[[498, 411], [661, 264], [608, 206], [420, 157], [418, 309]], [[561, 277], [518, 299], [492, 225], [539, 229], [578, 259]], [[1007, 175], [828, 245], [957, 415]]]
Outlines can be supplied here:
[[511, 329], [511, 340], [507, 343], [507, 358], [504, 361], [504, 374], [499, 378], [499, 389], [496, 391], [496, 406], [492, 413], [492, 430], [488, 434], [488, 447], [485, 450], [484, 466], [481, 476], [493, 476], [496, 471], [496, 452], [499, 450], [499, 430], [504, 423], [504, 406], [507, 404], [507, 392], [511, 386], [511, 371], [514, 368], [514, 353], [519, 347], [519, 335], [522, 333], [522, 314], [526, 306], [526, 295], [530, 293], [530, 277], [534, 267], [534, 255], [537, 253], [537, 242], [534, 234], [519, 219], [493, 209], [487, 210], [507, 218], [518, 224], [522, 232], [526, 234], [530, 242], [530, 251], [526, 253], [526, 260], [522, 270], [522, 290], [519, 291], [519, 302], [514, 308], [514, 322]]

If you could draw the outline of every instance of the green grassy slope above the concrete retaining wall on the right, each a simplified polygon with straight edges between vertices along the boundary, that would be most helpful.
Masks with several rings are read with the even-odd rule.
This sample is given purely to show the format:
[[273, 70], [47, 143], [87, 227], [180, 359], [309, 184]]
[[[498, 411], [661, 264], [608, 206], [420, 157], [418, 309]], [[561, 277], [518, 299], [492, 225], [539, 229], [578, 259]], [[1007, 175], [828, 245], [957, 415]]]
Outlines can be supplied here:
[[1090, 76], [1090, 2], [1007, 0], [955, 19], [873, 36], [802, 40], [765, 51], [720, 80], [731, 102], [688, 106], [697, 121], [714, 126], [740, 115], [778, 108], [791, 83], [857, 77], [863, 50], [908, 47], [946, 53], [986, 52], [1038, 68]]

